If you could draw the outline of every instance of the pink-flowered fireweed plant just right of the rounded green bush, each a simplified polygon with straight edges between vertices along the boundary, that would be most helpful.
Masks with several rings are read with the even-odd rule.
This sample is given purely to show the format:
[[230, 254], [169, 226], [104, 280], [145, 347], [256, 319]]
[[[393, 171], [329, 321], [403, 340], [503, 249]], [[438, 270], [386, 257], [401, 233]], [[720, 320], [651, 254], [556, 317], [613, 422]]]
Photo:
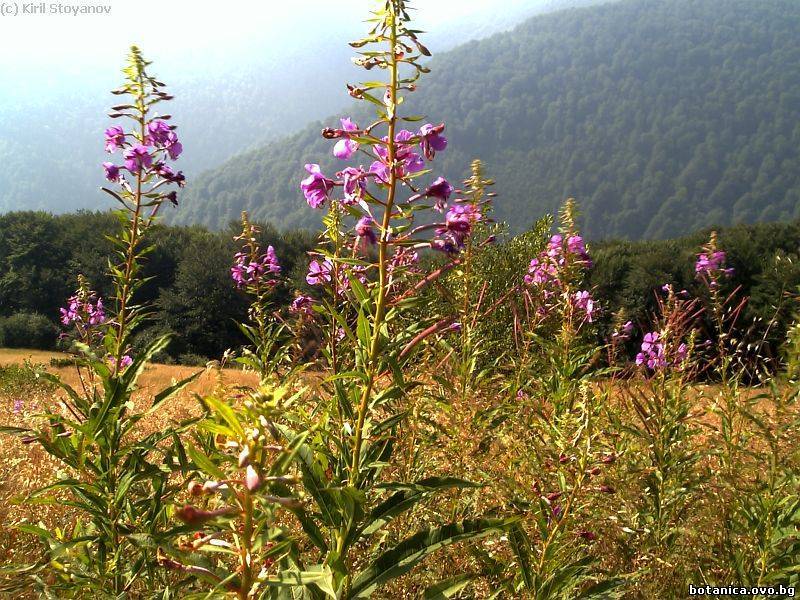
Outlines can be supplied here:
[[[558, 233], [520, 282], [522, 351], [507, 387], [514, 410], [506, 409], [503, 428], [524, 439], [526, 451], [511, 449], [503, 482], [506, 502], [522, 517], [509, 534], [516, 568], [503, 586], [533, 598], [606, 597], [620, 583], [590, 553], [598, 536], [590, 506], [613, 493], [603, 480], [616, 455], [597, 426], [607, 393], [590, 384], [588, 367], [601, 350], [593, 335], [600, 307], [584, 286], [591, 259], [575, 219], [569, 200]], [[532, 489], [518, 485], [520, 472]]]

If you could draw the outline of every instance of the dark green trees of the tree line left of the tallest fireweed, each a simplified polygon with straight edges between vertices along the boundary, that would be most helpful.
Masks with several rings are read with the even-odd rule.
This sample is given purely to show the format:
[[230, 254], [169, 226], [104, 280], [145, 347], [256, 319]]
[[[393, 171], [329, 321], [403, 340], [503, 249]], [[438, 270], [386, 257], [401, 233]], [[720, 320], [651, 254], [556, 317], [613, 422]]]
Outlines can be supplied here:
[[[112, 296], [104, 257], [112, 252], [108, 237], [117, 227], [112, 213], [0, 216], [0, 322], [21, 313], [13, 320], [14, 332], [20, 334], [4, 343], [0, 333], [0, 346], [55, 347], [58, 310], [72, 293], [78, 274], [86, 276], [101, 297]], [[150, 305], [153, 318], [137, 334], [135, 347], [141, 349], [169, 333], [174, 343], [156, 357], [164, 361], [181, 354], [219, 357], [228, 348], [241, 346], [245, 339], [236, 322], [244, 320], [247, 302], [230, 279], [236, 246], [229, 231], [156, 225], [150, 236], [152, 249], [142, 265], [145, 281], [137, 290], [136, 301]], [[275, 247], [290, 273], [314, 244], [308, 232], [280, 233], [269, 225], [262, 226], [259, 238], [263, 245]], [[295, 273], [293, 284], [299, 285], [304, 276], [304, 272]], [[275, 300], [285, 305], [290, 298], [282, 290]], [[38, 315], [30, 317], [29, 313]], [[24, 330], [26, 322], [33, 328], [30, 334]], [[0, 326], [0, 332], [3, 330]]]

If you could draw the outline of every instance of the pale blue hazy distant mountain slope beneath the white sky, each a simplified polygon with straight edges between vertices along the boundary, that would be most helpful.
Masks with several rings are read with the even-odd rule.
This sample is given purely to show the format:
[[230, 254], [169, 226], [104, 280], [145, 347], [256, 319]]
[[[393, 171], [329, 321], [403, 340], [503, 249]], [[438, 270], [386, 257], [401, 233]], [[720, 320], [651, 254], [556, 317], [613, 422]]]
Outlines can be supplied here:
[[[435, 1], [414, 3], [423, 26], [433, 28], [425, 15]], [[509, 0], [502, 12], [491, 3], [469, 2], [426, 39], [434, 51], [446, 50], [456, 39], [507, 30], [531, 14], [596, 1]], [[154, 61], [154, 73], [175, 95], [169, 112], [184, 142], [180, 168], [190, 180], [349, 103], [343, 81], [354, 76], [355, 68], [346, 42], [363, 33], [368, 3], [346, 7], [353, 5], [355, 14], [340, 3], [307, 3], [280, 35], [247, 38], [235, 48], [219, 44], [211, 53], [175, 48], [150, 54], [143, 47]], [[312, 9], [316, 18], [304, 22]], [[298, 20], [302, 35], [292, 26]], [[135, 29], [121, 35], [137, 39]], [[108, 206], [98, 189], [103, 184], [99, 165], [107, 158], [102, 132], [109, 124], [108, 107], [115, 103], [108, 90], [119, 85], [123, 58], [103, 54], [96, 59], [98, 66], [81, 69], [78, 64], [63, 73], [55, 66], [27, 73], [12, 65], [9, 71], [0, 61], [0, 80], [14, 83], [0, 86], [0, 212]]]

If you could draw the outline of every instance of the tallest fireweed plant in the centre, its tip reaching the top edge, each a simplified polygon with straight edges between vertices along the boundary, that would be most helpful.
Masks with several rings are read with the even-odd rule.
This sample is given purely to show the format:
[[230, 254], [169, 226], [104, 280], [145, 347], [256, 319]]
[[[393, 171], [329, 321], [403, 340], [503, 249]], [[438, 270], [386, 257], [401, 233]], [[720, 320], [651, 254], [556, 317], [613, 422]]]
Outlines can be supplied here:
[[[348, 86], [354, 98], [377, 107], [376, 120], [359, 126], [345, 118], [340, 128], [323, 131], [325, 138], [337, 140], [337, 158], [364, 157], [368, 166], [350, 164], [332, 179], [309, 164], [301, 183], [313, 208], [335, 204], [307, 276], [309, 284], [330, 290], [315, 310], [336, 324], [327, 353], [335, 368], [328, 379], [330, 400], [320, 402], [325, 426], [297, 454], [310, 500], [302, 526], [313, 532], [311, 556], [318, 562], [280, 577], [303, 581], [322, 571], [326, 583], [316, 584], [314, 593], [337, 598], [368, 597], [437, 549], [509, 525], [502, 519], [472, 519], [423, 528], [388, 547], [380, 543], [392, 538], [387, 527], [427, 496], [473, 485], [451, 477], [413, 482], [382, 477], [406, 417], [404, 400], [417, 385], [407, 378], [411, 359], [422, 341], [455, 321], [434, 317], [407, 323], [402, 316], [418, 302], [420, 290], [458, 263], [484, 212], [470, 198], [451, 198], [453, 186], [443, 178], [429, 177], [426, 162], [447, 147], [444, 124], [412, 131], [406, 127], [421, 119], [399, 113], [402, 95], [413, 92], [428, 70], [420, 63], [428, 50], [408, 21], [406, 2], [385, 2], [373, 14], [369, 35], [351, 44], [362, 49], [357, 64], [388, 74], [388, 81]], [[443, 218], [417, 218], [431, 210]], [[355, 223], [352, 230], [343, 231], [349, 222]], [[449, 264], [422, 271], [418, 253], [429, 250], [442, 252]], [[281, 433], [287, 445], [298, 435], [291, 425]], [[453, 585], [463, 585], [464, 577], [458, 579]]]

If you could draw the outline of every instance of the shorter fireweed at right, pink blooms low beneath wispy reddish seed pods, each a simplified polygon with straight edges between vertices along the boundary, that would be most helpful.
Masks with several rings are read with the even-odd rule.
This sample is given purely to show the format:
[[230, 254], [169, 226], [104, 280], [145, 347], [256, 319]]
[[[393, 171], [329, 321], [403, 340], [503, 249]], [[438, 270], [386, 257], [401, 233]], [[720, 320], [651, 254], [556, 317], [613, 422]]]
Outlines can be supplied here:
[[686, 551], [686, 524], [701, 483], [688, 383], [697, 375], [696, 327], [703, 309], [687, 292], [666, 284], [657, 292], [657, 310], [655, 327], [642, 335], [634, 360], [640, 378], [617, 384], [629, 418], [609, 411], [632, 465], [621, 513], [624, 544], [636, 547], [639, 562], [632, 570], [638, 572], [657, 564], [669, 568], [674, 553]]

